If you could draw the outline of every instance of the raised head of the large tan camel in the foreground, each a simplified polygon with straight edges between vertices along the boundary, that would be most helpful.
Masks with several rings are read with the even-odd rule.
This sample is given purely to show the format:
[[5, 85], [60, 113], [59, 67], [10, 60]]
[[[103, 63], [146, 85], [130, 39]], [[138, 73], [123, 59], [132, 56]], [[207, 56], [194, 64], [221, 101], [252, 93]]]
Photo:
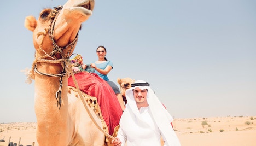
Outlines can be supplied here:
[[92, 15], [93, 9], [94, 0], [68, 0], [63, 7], [42, 10], [38, 20], [27, 16], [25, 27], [33, 32], [36, 56], [69, 57], [77, 43], [80, 26]]

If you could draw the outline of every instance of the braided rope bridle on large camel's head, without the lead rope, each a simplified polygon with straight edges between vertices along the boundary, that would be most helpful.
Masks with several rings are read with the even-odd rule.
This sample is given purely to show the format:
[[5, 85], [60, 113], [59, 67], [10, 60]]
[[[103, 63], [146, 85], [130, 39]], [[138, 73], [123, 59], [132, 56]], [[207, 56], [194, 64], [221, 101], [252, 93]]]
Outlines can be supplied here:
[[[42, 51], [44, 52], [44, 56], [40, 56], [38, 57], [38, 55], [36, 54], [36, 57], [35, 57], [35, 60], [33, 62], [33, 65], [32, 65], [32, 68], [33, 68], [33, 71], [32, 71], [32, 79], [34, 79], [34, 72], [40, 74], [40, 75], [45, 75], [45, 76], [48, 76], [48, 77], [59, 77], [59, 90], [57, 90], [56, 92], [56, 100], [57, 100], [57, 107], [61, 107], [61, 92], [62, 92], [62, 78], [65, 77], [67, 75], [67, 71], [70, 70], [70, 66], [69, 65], [69, 58], [71, 56], [71, 51], [72, 49], [74, 48], [74, 45], [77, 43], [77, 40], [78, 40], [78, 34], [77, 36], [75, 37], [75, 39], [69, 43], [68, 45], [64, 46], [64, 47], [60, 47], [56, 44], [55, 40], [54, 40], [54, 26], [55, 26], [55, 22], [56, 22], [56, 19], [57, 19], [57, 16], [59, 16], [60, 14], [60, 11], [62, 9], [62, 6], [59, 6], [59, 7], [54, 7], [54, 10], [51, 11], [51, 19], [50, 19], [50, 25], [48, 28], [45, 28], [45, 32], [39, 32], [37, 34], [37, 37], [43, 35], [43, 38], [40, 42], [40, 45], [39, 45], [39, 49], [37, 50], [37, 53], [39, 51]], [[44, 38], [45, 36], [49, 34], [49, 37], [50, 37], [50, 40], [51, 42], [53, 43], [53, 50], [50, 52], [50, 54], [47, 54], [43, 49], [42, 49], [42, 45], [43, 45], [43, 41], [44, 41]], [[63, 54], [63, 50], [69, 48], [69, 50], [67, 51], [67, 54]], [[60, 55], [60, 59], [57, 59], [56, 55]], [[50, 60], [50, 59], [51, 60]], [[44, 62], [44, 63], [55, 63], [55, 64], [61, 64], [62, 66], [62, 71], [60, 74], [48, 74], [48, 73], [42, 73], [40, 71], [38, 71], [37, 69], [37, 63], [38, 62]]]

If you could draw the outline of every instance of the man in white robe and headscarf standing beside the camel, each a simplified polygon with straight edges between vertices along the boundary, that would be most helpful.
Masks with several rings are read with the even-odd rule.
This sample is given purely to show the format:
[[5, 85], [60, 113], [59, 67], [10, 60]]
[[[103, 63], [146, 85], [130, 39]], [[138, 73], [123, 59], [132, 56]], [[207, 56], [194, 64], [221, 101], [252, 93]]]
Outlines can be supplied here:
[[115, 146], [179, 146], [172, 116], [159, 101], [146, 81], [138, 80], [126, 90], [127, 105], [120, 119], [120, 128], [112, 144]]

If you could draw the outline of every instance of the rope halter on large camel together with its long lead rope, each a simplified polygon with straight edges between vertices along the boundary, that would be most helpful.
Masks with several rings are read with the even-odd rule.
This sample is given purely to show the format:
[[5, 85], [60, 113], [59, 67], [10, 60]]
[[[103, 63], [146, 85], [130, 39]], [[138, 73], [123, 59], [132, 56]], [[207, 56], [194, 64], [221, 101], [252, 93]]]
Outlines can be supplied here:
[[[77, 80], [75, 79], [74, 77], [74, 73], [72, 71], [72, 66], [71, 66], [71, 62], [70, 62], [70, 56], [72, 55], [71, 54], [71, 51], [72, 49], [74, 48], [74, 45], [77, 43], [77, 40], [78, 40], [78, 34], [77, 36], [75, 37], [75, 39], [69, 43], [67, 46], [64, 46], [64, 47], [60, 47], [56, 44], [55, 40], [54, 40], [54, 25], [55, 25], [55, 22], [56, 22], [56, 18], [57, 16], [59, 16], [60, 14], [60, 10], [62, 9], [62, 6], [59, 6], [59, 7], [54, 7], [54, 10], [51, 11], [51, 23], [50, 23], [50, 26], [49, 28], [45, 28], [45, 32], [39, 32], [37, 34], [37, 37], [39, 37], [40, 35], [43, 35], [43, 38], [42, 38], [42, 41], [40, 42], [40, 45], [39, 45], [39, 49], [37, 50], [37, 53], [38, 51], [42, 51], [44, 52], [45, 56], [42, 56], [42, 57], [38, 57], [38, 55], [36, 54], [36, 57], [35, 57], [35, 60], [32, 64], [32, 70], [31, 70], [31, 73], [28, 73], [28, 75], [30, 76], [31, 79], [34, 79], [35, 75], [34, 73], [38, 73], [40, 75], [45, 75], [45, 76], [48, 76], [48, 77], [59, 77], [59, 83], [60, 83], [60, 87], [59, 87], [59, 90], [56, 91], [56, 94], [55, 94], [55, 97], [56, 97], [56, 100], [57, 100], [57, 107], [59, 107], [59, 109], [61, 108], [61, 92], [62, 92], [62, 78], [65, 77], [66, 75], [68, 75], [69, 77], [69, 74], [72, 75], [72, 79], [75, 83], [75, 87], [78, 91], [78, 94], [80, 96], [80, 99], [82, 100], [83, 104], [84, 104], [84, 107], [86, 109], [86, 112], [89, 114], [91, 120], [94, 122], [94, 124], [96, 125], [97, 129], [100, 130], [101, 132], [104, 133], [104, 135], [106, 137], [109, 137], [111, 139], [115, 139], [112, 135], [109, 135], [108, 132], [104, 131], [102, 129], [102, 127], [100, 127], [96, 120], [94, 119], [94, 117], [92, 116], [89, 108], [88, 108], [88, 105], [86, 104], [85, 100], [84, 100], [84, 96], [82, 94], [82, 91], [80, 91], [79, 89], [79, 86], [78, 86], [78, 83], [77, 83]], [[47, 54], [43, 49], [42, 49], [42, 45], [43, 45], [43, 41], [44, 41], [44, 38], [45, 36], [49, 33], [49, 37], [51, 39], [51, 42], [53, 43], [53, 51], [50, 52], [50, 54]], [[63, 54], [63, 50], [64, 49], [67, 49], [67, 48], [70, 48], [68, 51], [67, 51], [67, 54]], [[61, 59], [56, 59], [55, 55], [56, 54], [59, 54], [61, 55]], [[50, 58], [50, 59], [53, 59], [53, 60], [49, 60], [49, 59], [46, 59], [46, 58]], [[44, 63], [61, 63], [61, 66], [62, 66], [62, 72], [60, 74], [48, 74], [48, 73], [42, 73], [42, 72], [39, 72], [37, 70], [37, 63], [38, 62], [44, 62]], [[87, 94], [86, 94], [87, 95]], [[88, 96], [88, 95], [87, 95]], [[101, 117], [102, 118], [102, 117]]]

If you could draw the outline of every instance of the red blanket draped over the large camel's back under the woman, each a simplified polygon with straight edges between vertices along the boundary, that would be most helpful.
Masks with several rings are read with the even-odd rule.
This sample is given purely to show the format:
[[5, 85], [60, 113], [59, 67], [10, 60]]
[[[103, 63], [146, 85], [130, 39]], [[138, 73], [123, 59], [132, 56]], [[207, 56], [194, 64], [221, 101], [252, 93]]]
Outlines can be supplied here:
[[[97, 98], [109, 134], [112, 135], [122, 115], [121, 106], [112, 87], [95, 73], [80, 72], [75, 74], [75, 79], [81, 91]], [[68, 86], [75, 87], [72, 77], [68, 78]]]

